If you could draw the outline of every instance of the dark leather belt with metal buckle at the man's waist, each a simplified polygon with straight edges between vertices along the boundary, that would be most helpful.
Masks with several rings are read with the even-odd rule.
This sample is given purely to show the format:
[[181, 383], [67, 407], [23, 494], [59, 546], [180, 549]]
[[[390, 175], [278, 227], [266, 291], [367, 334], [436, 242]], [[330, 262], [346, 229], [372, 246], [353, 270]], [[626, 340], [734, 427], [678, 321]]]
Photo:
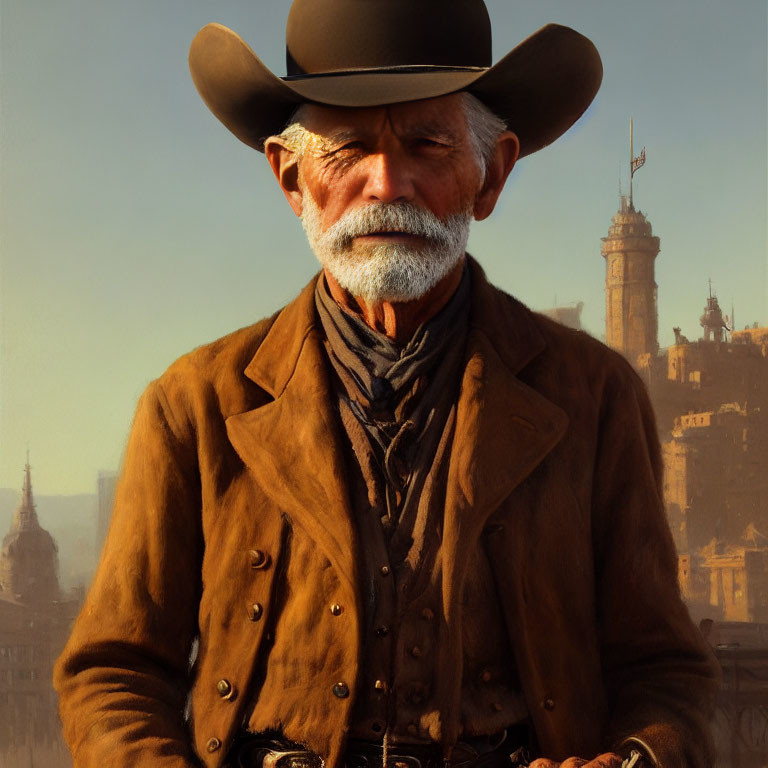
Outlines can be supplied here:
[[[496, 736], [459, 742], [450, 761], [438, 744], [391, 744], [386, 768], [514, 768], [528, 764], [528, 729], [512, 728]], [[344, 768], [385, 768], [379, 743], [351, 739]], [[263, 735], [241, 733], [223, 768], [325, 768], [323, 759], [300, 744]]]

